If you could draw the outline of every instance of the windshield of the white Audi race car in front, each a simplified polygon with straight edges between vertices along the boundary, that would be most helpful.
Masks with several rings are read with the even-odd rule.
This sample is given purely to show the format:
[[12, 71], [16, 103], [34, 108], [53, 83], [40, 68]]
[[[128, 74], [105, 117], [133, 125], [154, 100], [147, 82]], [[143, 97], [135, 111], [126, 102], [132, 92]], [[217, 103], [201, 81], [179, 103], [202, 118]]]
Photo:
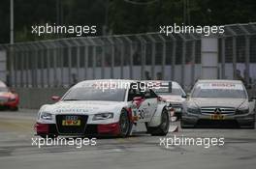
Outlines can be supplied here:
[[63, 100], [124, 101], [125, 89], [97, 89], [94, 87], [73, 88]]

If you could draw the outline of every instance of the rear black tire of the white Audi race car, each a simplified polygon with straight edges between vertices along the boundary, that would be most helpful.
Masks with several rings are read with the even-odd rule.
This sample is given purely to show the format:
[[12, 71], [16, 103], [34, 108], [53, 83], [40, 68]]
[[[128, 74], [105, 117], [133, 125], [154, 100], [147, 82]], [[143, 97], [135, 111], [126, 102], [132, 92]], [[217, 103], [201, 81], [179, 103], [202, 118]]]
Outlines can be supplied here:
[[170, 119], [169, 114], [166, 109], [162, 111], [161, 114], [161, 124], [158, 127], [147, 127], [145, 125], [147, 133], [150, 133], [152, 136], [165, 136], [169, 131]]

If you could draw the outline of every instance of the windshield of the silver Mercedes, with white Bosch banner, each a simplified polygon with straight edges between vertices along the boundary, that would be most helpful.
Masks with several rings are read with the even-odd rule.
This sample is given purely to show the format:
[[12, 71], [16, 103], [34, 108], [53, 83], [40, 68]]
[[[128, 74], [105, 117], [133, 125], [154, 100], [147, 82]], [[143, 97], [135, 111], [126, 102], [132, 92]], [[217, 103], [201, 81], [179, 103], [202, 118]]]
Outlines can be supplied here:
[[[213, 84], [213, 83], [212, 83]], [[191, 94], [191, 98], [233, 98], [246, 99], [246, 93], [241, 84], [221, 84], [212, 86], [210, 83], [198, 84]]]

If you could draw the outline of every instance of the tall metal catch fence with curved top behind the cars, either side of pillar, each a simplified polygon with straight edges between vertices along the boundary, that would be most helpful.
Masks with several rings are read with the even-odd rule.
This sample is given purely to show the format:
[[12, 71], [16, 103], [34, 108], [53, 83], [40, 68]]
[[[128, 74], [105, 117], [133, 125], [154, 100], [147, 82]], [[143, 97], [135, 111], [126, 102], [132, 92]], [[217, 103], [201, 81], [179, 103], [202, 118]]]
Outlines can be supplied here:
[[[201, 77], [198, 34], [145, 33], [2, 44], [9, 83], [69, 87], [94, 78], [172, 79], [190, 89]], [[219, 78], [256, 80], [256, 23], [226, 25], [218, 39]]]

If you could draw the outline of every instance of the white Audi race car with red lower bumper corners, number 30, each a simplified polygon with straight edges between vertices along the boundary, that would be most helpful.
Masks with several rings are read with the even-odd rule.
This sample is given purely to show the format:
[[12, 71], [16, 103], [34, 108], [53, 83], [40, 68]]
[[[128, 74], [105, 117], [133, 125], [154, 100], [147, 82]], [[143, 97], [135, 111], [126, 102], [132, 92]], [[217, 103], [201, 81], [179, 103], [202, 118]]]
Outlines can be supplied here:
[[[120, 86], [120, 84], [122, 86]], [[166, 135], [166, 103], [132, 80], [89, 80], [73, 86], [54, 104], [43, 105], [35, 129], [42, 137], [114, 135], [125, 137], [144, 123], [151, 135]]]

